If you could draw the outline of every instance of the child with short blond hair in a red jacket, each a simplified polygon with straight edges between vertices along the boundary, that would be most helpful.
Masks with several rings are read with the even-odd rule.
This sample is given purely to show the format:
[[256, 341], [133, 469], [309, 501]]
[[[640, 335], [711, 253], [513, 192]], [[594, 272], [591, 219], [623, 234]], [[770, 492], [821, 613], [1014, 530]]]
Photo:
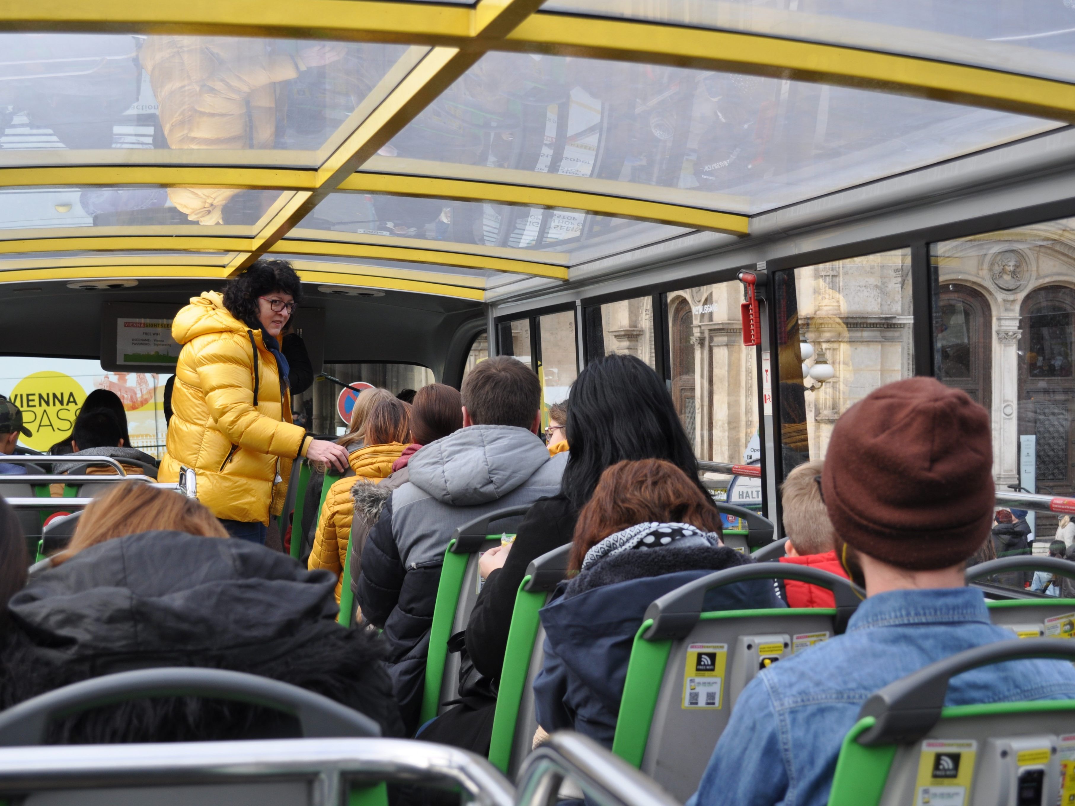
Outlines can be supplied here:
[[[782, 557], [780, 562], [828, 571], [846, 579], [847, 572], [836, 557], [836, 535], [821, 501], [823, 466], [820, 460], [803, 462], [792, 469], [780, 486], [784, 529], [788, 534], [788, 542], [784, 544], [787, 556]], [[836, 606], [832, 591], [827, 588], [794, 579], [782, 579], [779, 587], [788, 607]]]

